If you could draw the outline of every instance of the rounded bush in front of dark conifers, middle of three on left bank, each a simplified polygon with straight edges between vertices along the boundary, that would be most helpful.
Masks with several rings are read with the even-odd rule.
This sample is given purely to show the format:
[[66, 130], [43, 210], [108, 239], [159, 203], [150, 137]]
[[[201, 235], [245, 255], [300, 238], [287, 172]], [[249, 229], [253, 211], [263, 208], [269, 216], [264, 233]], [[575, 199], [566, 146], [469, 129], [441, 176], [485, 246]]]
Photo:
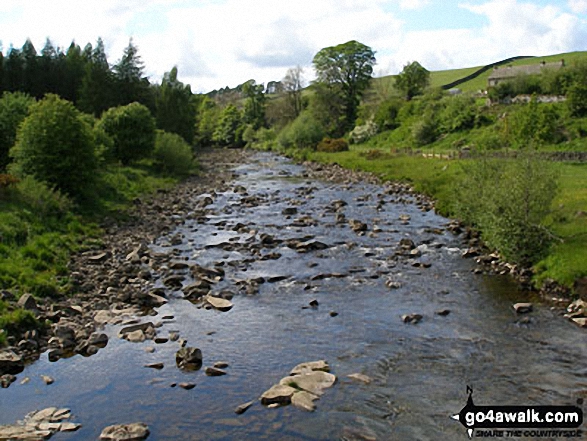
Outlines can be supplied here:
[[112, 138], [111, 155], [123, 165], [148, 158], [155, 149], [155, 118], [139, 103], [108, 109], [97, 130]]

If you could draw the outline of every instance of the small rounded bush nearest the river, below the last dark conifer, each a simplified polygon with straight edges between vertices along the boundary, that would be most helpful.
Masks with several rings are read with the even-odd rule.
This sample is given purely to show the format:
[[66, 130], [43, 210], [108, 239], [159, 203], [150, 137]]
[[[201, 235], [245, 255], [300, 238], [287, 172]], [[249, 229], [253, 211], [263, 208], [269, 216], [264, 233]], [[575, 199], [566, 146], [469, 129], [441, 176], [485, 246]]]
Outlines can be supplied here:
[[185, 140], [175, 134], [157, 131], [155, 139], [155, 161], [167, 174], [186, 176], [194, 168], [194, 154]]

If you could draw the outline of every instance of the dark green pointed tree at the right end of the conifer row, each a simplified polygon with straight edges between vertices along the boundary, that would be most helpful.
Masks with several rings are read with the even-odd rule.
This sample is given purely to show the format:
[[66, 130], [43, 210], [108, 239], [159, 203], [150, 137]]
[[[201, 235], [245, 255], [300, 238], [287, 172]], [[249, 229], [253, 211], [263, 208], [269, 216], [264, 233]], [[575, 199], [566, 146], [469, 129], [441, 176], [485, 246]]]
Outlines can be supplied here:
[[163, 75], [161, 87], [155, 99], [157, 127], [170, 133], [177, 133], [186, 142], [194, 140], [196, 105], [192, 90], [177, 79], [177, 67]]

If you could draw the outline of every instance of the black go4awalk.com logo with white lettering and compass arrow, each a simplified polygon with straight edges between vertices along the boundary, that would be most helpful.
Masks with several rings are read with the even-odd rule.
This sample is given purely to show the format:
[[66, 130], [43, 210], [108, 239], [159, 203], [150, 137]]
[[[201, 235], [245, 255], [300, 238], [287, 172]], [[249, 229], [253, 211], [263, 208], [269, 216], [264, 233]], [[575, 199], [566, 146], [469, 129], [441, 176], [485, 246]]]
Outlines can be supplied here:
[[451, 418], [473, 437], [581, 438], [583, 410], [577, 406], [476, 406], [467, 386], [467, 405]]

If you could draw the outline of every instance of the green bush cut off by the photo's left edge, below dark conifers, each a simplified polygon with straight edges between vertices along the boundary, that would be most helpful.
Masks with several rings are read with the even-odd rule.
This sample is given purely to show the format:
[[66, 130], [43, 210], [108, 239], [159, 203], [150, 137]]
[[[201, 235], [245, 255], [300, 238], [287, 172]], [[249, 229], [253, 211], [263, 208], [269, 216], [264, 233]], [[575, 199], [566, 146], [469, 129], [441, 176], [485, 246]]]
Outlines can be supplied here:
[[9, 163], [8, 153], [16, 142], [18, 127], [35, 100], [22, 92], [5, 93], [0, 98], [0, 172]]

